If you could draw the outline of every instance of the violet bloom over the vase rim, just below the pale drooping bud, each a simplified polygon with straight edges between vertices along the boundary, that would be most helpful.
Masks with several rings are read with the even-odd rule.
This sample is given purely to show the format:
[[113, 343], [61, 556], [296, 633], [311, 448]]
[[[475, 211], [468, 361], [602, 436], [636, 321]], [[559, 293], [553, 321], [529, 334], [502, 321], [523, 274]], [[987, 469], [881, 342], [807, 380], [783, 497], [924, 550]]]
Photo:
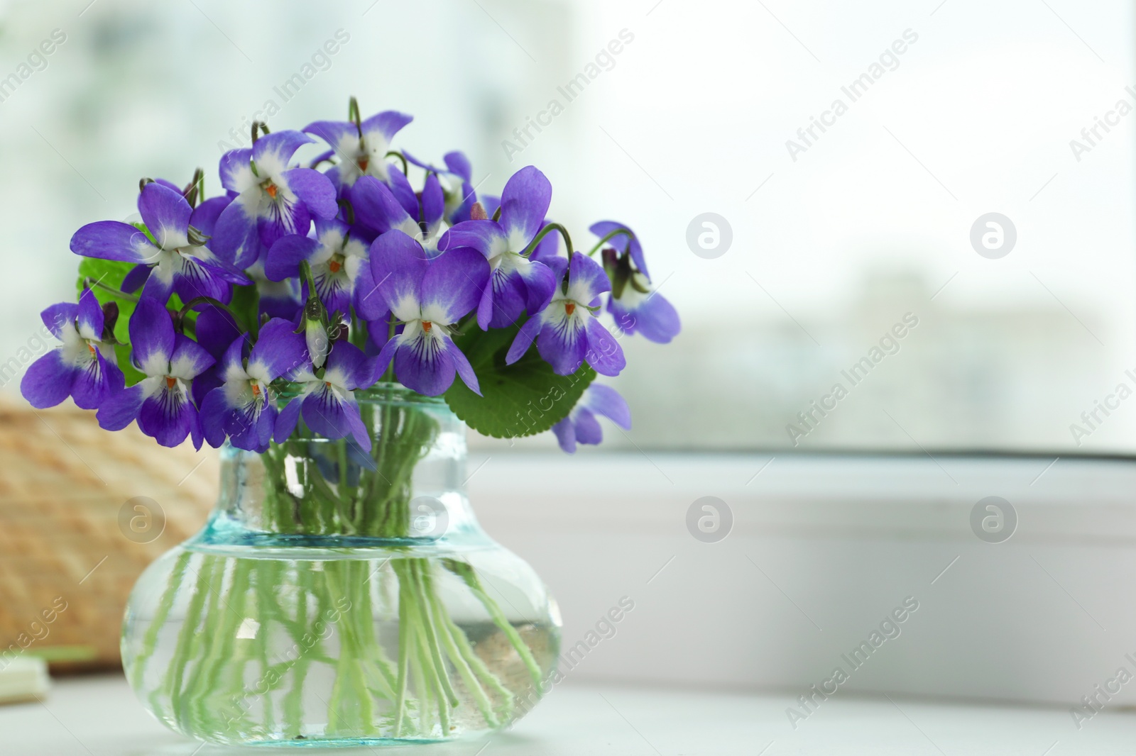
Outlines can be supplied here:
[[276, 418], [274, 438], [283, 443], [295, 430], [303, 411], [303, 421], [324, 438], [343, 438], [350, 435], [365, 451], [370, 451], [370, 435], [359, 415], [354, 389], [374, 383], [374, 360], [364, 355], [348, 341], [335, 342], [327, 355], [323, 378], [317, 377], [311, 363], [289, 370], [285, 377], [301, 384], [300, 395], [293, 397]]

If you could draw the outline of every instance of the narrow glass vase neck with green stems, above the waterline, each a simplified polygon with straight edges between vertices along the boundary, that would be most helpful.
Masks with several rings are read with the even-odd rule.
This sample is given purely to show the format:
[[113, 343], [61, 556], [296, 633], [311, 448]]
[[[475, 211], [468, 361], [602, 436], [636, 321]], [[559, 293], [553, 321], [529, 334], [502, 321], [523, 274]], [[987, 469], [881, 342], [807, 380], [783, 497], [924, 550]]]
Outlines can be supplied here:
[[481, 534], [463, 489], [465, 423], [436, 400], [358, 398], [369, 450], [304, 425], [262, 454], [223, 448], [220, 497], [201, 539], [326, 545]]

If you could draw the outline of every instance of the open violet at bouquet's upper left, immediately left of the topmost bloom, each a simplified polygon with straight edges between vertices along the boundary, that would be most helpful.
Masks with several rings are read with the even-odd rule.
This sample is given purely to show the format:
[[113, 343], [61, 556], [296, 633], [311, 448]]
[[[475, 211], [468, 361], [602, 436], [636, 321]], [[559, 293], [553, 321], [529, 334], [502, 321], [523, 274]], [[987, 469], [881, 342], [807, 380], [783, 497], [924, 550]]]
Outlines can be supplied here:
[[300, 146], [314, 140], [300, 132], [274, 132], [251, 149], [220, 159], [220, 180], [235, 199], [217, 219], [214, 246], [240, 267], [256, 259], [260, 244], [272, 246], [287, 234], [308, 233], [312, 217], [339, 212], [335, 187], [318, 170], [289, 167]]

